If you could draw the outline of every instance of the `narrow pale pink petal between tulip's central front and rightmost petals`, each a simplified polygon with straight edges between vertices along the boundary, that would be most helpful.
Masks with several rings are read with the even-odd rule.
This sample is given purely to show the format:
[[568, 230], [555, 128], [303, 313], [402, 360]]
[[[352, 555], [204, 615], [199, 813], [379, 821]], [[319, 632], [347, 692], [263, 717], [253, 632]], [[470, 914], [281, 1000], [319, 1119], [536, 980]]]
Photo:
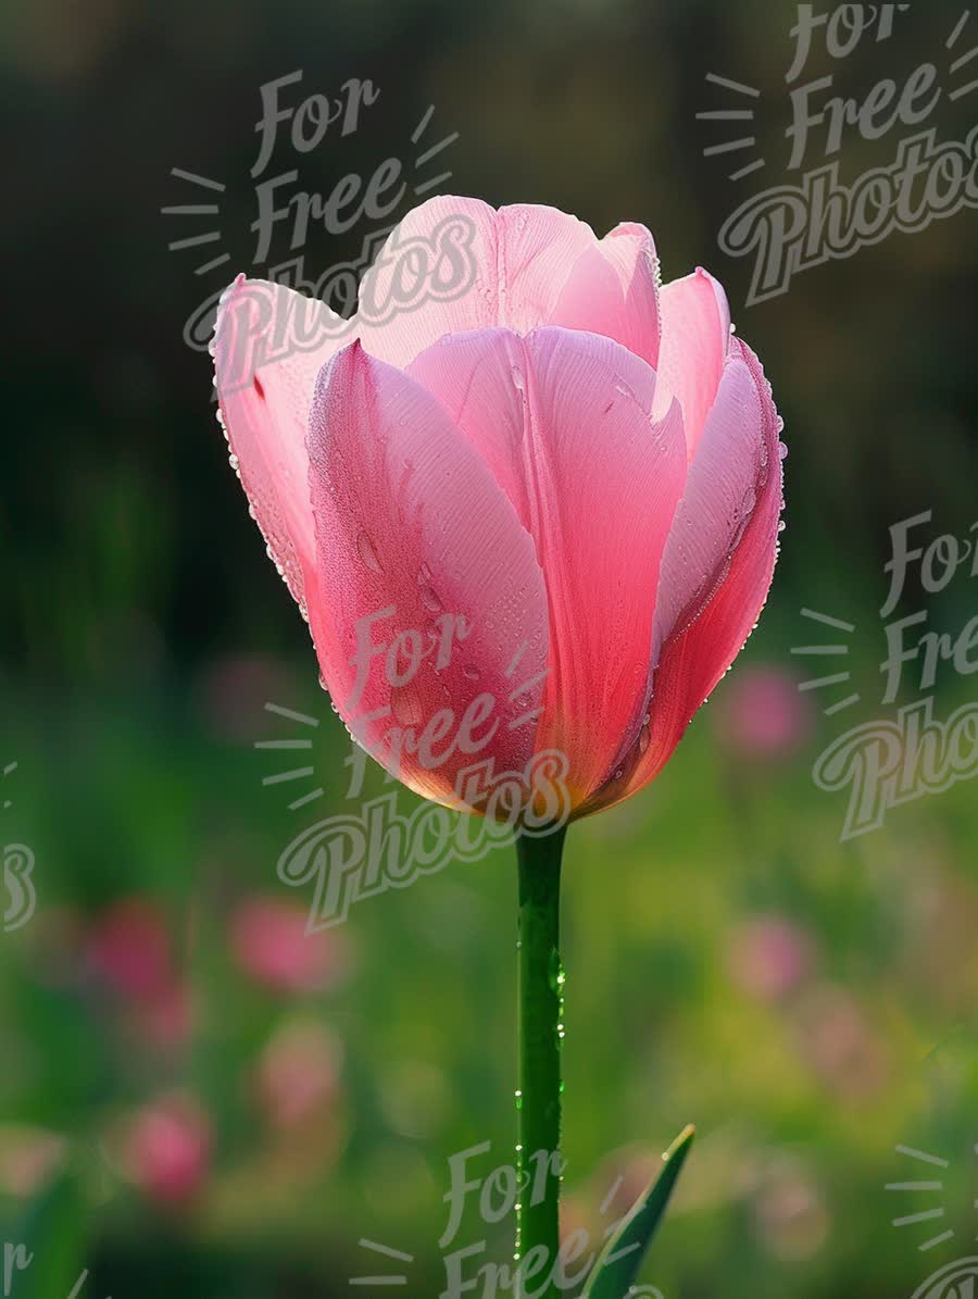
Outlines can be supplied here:
[[665, 284], [660, 296], [662, 342], [658, 349], [656, 416], [678, 397], [690, 459], [720, 387], [730, 351], [730, 308], [722, 286], [703, 268]]

